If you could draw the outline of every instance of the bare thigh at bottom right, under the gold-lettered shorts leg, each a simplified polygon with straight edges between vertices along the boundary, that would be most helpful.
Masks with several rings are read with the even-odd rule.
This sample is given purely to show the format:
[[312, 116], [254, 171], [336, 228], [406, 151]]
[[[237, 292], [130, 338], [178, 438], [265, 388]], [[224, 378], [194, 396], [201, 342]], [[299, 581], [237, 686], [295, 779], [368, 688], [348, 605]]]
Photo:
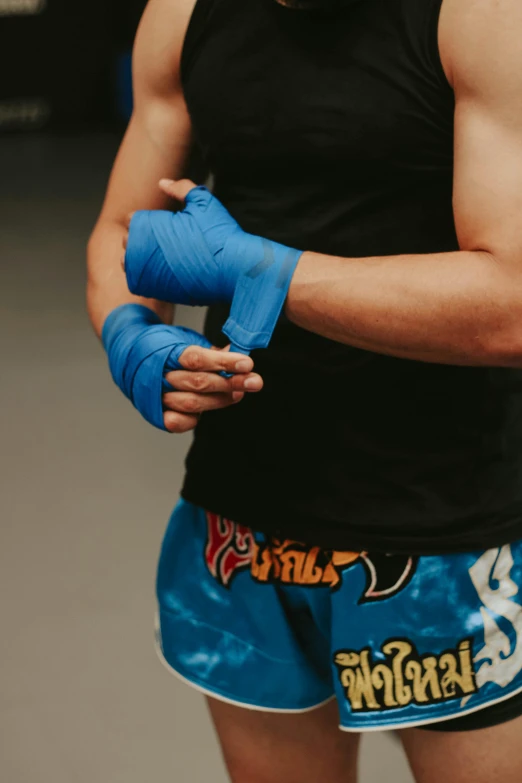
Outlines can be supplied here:
[[522, 718], [489, 729], [401, 732], [417, 783], [520, 783]]

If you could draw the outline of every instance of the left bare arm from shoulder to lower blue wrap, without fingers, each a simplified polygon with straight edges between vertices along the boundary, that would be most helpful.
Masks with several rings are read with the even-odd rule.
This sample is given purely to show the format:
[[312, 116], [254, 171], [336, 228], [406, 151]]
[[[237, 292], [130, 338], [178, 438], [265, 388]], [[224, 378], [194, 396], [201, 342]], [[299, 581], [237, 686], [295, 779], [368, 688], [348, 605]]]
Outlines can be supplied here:
[[114, 163], [103, 208], [88, 246], [87, 303], [98, 335], [109, 312], [143, 302], [166, 322], [172, 306], [133, 297], [121, 268], [126, 221], [137, 209], [165, 209], [158, 187], [183, 175], [190, 155], [190, 120], [180, 83], [180, 55], [195, 0], [150, 0], [133, 57], [134, 113]]

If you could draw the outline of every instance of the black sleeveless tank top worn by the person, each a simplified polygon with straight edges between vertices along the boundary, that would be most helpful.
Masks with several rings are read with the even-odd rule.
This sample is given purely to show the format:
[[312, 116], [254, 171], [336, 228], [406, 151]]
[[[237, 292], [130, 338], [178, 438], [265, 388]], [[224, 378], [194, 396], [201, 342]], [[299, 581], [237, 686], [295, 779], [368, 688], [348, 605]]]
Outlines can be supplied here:
[[[458, 249], [441, 0], [334, 14], [198, 0], [182, 57], [215, 194], [240, 225], [346, 257]], [[226, 312], [207, 336], [223, 345]], [[280, 538], [435, 553], [522, 537], [522, 383], [353, 349], [283, 318], [260, 394], [206, 413], [185, 499]]]

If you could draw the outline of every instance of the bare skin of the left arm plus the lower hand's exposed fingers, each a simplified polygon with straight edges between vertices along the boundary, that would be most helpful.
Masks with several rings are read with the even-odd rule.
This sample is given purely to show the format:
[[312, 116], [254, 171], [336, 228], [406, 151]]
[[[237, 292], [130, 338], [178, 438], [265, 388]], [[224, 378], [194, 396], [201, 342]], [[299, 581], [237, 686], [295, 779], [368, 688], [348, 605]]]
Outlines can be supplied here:
[[[165, 321], [172, 305], [132, 296], [122, 270], [129, 213], [169, 208], [159, 188], [165, 177], [183, 176], [191, 152], [190, 118], [180, 82], [180, 56], [195, 0], [149, 0], [134, 47], [134, 113], [116, 158], [98, 223], [88, 248], [87, 301], [100, 336], [107, 315], [118, 305], [142, 302]], [[242, 364], [238, 367], [237, 362]], [[169, 373], [175, 391], [163, 396], [169, 432], [193, 429], [201, 413], [239, 402], [263, 382], [244, 356], [187, 348], [184, 370]], [[221, 371], [235, 372], [232, 378]]]

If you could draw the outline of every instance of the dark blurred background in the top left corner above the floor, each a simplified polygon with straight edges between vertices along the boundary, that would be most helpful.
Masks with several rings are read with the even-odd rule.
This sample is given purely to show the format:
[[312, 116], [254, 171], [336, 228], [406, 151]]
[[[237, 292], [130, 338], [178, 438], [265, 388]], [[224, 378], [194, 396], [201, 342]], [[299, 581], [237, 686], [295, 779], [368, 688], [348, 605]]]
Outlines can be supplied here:
[[0, 0], [0, 132], [117, 128], [145, 0]]

